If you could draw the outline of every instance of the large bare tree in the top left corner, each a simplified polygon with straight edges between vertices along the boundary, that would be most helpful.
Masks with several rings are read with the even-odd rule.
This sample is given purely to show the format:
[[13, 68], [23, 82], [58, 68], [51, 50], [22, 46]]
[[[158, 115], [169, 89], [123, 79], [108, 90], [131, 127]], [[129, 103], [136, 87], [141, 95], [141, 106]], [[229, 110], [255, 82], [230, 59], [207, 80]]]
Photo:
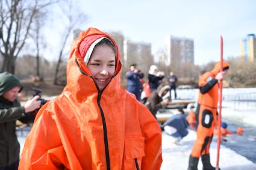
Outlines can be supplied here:
[[0, 2], [0, 53], [4, 57], [2, 71], [14, 73], [15, 61], [26, 43], [36, 13], [56, 1], [3, 0]]

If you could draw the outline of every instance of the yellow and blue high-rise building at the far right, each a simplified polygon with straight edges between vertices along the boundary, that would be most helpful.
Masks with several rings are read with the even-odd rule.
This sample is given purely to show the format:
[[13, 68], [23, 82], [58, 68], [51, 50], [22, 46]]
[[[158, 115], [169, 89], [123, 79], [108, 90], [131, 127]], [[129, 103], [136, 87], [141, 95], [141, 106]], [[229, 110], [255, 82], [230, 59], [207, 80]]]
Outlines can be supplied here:
[[256, 60], [256, 36], [248, 34], [246, 38], [241, 40], [241, 58], [254, 62]]

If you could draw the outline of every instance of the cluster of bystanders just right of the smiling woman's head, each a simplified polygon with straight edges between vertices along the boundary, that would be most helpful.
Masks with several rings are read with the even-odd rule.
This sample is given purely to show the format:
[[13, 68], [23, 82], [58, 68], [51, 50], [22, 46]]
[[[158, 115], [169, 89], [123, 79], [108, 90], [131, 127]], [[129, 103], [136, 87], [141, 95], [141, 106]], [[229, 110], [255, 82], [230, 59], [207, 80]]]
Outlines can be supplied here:
[[[170, 75], [166, 77], [167, 84], [163, 82], [164, 72], [159, 71], [156, 65], [151, 65], [148, 71], [148, 81], [145, 81], [142, 71], [136, 68], [137, 64], [130, 65], [130, 70], [125, 74], [127, 79], [127, 90], [136, 96], [136, 99], [142, 102], [157, 119], [158, 109], [166, 108], [172, 100], [172, 90], [174, 90], [176, 99], [176, 82], [178, 78], [170, 71]], [[142, 91], [144, 92], [141, 99]], [[169, 97], [163, 99], [169, 92]]]

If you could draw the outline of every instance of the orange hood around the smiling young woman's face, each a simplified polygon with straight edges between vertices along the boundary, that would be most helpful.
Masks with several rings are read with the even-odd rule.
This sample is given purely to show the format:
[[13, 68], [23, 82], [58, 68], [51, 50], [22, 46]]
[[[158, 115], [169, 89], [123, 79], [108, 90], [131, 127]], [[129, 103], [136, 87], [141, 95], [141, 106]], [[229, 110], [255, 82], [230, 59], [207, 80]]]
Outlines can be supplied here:
[[[100, 92], [93, 80], [92, 73], [84, 62], [84, 56], [89, 51], [90, 46], [102, 37], [108, 38], [116, 47], [116, 70], [110, 83]], [[83, 43], [83, 47], [81, 47], [81, 43]], [[120, 53], [113, 38], [107, 33], [99, 31], [99, 29], [89, 28], [87, 31], [81, 32], [72, 43], [67, 61], [67, 85], [64, 92], [72, 93], [78, 102], [83, 102], [87, 97], [98, 95], [98, 93], [108, 97], [117, 96], [120, 88], [121, 66]]]

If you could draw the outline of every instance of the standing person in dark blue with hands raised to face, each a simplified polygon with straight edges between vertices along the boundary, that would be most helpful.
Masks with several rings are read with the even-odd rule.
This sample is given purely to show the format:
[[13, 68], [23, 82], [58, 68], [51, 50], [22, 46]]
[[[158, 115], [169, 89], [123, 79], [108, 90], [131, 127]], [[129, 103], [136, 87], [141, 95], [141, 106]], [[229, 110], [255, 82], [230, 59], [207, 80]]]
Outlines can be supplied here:
[[137, 64], [131, 64], [130, 70], [128, 70], [125, 74], [127, 79], [127, 90], [130, 93], [133, 93], [136, 96], [136, 99], [140, 101], [140, 96], [142, 95], [142, 83], [140, 82], [144, 74], [142, 71], [137, 70]]

